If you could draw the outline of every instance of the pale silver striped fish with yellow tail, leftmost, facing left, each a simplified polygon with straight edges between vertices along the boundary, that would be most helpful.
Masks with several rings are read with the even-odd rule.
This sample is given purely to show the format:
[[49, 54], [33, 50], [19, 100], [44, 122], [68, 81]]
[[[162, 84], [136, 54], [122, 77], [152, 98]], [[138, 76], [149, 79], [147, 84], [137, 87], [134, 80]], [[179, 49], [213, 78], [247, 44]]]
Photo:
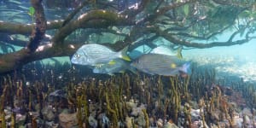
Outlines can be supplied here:
[[108, 63], [109, 61], [117, 58], [131, 61], [126, 55], [127, 49], [128, 47], [119, 52], [115, 52], [101, 44], [84, 44], [73, 55], [71, 62], [78, 65], [95, 66], [97, 64]]

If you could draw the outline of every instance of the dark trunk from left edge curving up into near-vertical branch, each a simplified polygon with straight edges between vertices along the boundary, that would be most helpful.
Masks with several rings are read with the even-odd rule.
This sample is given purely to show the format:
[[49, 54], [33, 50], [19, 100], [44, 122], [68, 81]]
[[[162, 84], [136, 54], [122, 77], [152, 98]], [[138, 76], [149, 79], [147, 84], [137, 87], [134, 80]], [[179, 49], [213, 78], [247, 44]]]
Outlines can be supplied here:
[[32, 0], [32, 6], [36, 9], [36, 26], [35, 30], [32, 30], [32, 37], [26, 48], [20, 49], [19, 51], [0, 55], [0, 73], [9, 72], [16, 68], [23, 66], [26, 58], [30, 57], [32, 53], [38, 48], [41, 39], [44, 37], [46, 30], [46, 21], [44, 18], [44, 9], [40, 0]]

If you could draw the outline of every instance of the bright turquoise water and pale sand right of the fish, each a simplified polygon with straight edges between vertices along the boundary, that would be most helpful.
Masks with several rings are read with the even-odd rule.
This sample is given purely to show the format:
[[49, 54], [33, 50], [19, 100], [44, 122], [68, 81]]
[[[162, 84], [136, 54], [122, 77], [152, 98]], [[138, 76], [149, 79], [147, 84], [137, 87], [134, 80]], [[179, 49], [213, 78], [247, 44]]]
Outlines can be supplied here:
[[199, 65], [215, 67], [216, 79], [239, 77], [256, 83], [256, 40], [247, 44], [210, 49], [183, 50], [183, 58]]

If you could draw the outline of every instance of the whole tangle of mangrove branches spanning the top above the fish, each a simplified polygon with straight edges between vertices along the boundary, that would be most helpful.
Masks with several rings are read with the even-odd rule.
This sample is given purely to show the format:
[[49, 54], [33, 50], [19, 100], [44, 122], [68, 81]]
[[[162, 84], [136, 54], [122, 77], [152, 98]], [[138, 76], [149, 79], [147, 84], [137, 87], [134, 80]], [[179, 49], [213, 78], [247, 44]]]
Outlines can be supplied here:
[[[90, 36], [92, 33], [101, 34], [102, 32], [113, 33], [115, 35], [122, 36], [122, 38], [125, 38], [124, 40], [119, 40], [115, 43], [111, 42], [111, 43], [104, 44], [116, 51], [119, 51], [120, 49], [124, 49], [127, 46], [129, 47], [130, 50], [136, 49], [137, 47], [143, 44], [147, 44], [149, 47], [154, 48], [157, 46], [156, 44], [154, 44], [154, 39], [161, 38], [161, 37], [166, 38], [166, 40], [168, 40], [170, 44], [172, 43], [174, 45], [183, 45], [186, 47], [194, 47], [199, 49], [212, 48], [216, 46], [231, 46], [236, 44], [245, 44], [252, 38], [256, 38], [256, 37], [251, 37], [253, 35], [253, 32], [255, 32], [255, 30], [253, 29], [253, 22], [254, 22], [253, 20], [252, 23], [251, 22], [248, 23], [248, 26], [245, 26], [244, 29], [240, 29], [237, 32], [234, 32], [233, 35], [227, 38], [226, 42], [212, 42], [209, 44], [204, 44], [204, 43], [196, 43], [196, 42], [189, 41], [189, 39], [196, 40], [198, 38], [207, 40], [212, 36], [217, 35], [218, 33], [223, 33], [224, 30], [227, 30], [230, 27], [234, 26], [234, 24], [236, 24], [235, 21], [232, 22], [229, 20], [228, 23], [224, 23], [224, 28], [219, 27], [217, 28], [218, 30], [214, 29], [214, 32], [212, 30], [204, 31], [209, 33], [202, 32], [205, 34], [202, 37], [200, 36], [197, 37], [193, 34], [190, 34], [193, 32], [195, 33], [195, 30], [200, 30], [198, 28], [201, 28], [200, 25], [203, 25], [203, 24], [197, 24], [198, 21], [200, 20], [199, 17], [202, 15], [208, 16], [208, 15], [202, 14], [202, 12], [199, 12], [200, 13], [199, 15], [198, 14], [195, 15], [195, 13], [193, 14], [188, 13], [189, 9], [191, 9], [193, 6], [189, 6], [189, 9], [186, 9], [185, 8], [186, 6], [183, 6], [185, 4], [189, 4], [189, 3], [193, 4], [195, 2], [196, 4], [203, 3], [197, 0], [183, 0], [180, 2], [173, 2], [173, 3], [170, 2], [170, 4], [166, 4], [166, 5], [164, 5], [164, 3], [166, 2], [163, 0], [160, 0], [158, 2], [142, 0], [142, 2], [138, 4], [137, 9], [127, 9], [124, 12], [114, 12], [113, 10], [111, 11], [111, 9], [103, 8], [103, 7], [101, 7], [101, 9], [96, 9], [95, 7], [88, 6], [88, 9], [90, 10], [87, 10], [84, 15], [80, 15], [78, 19], [74, 19], [75, 15], [79, 13], [79, 10], [85, 6], [86, 2], [84, 2], [83, 5], [79, 6], [78, 9], [75, 9], [72, 14], [68, 15], [65, 21], [61, 21], [61, 20], [50, 21], [50, 22], [47, 22], [47, 24], [44, 18], [44, 9], [41, 5], [41, 1], [42, 0], [32, 0], [32, 6], [36, 9], [36, 15], [35, 15], [36, 24], [21, 25], [21, 24], [0, 21], [0, 32], [6, 33], [6, 35], [2, 35], [2, 37], [7, 39], [7, 40], [3, 40], [2, 38], [2, 40], [0, 39], [0, 41], [7, 42], [8, 44], [15, 44], [14, 41], [10, 42], [8, 40], [9, 34], [22, 34], [27, 36], [29, 35], [29, 33], [32, 32], [30, 41], [27, 44], [25, 42], [22, 42], [21, 44], [21, 42], [17, 40], [18, 42], [16, 44], [18, 45], [21, 44], [21, 46], [26, 45], [25, 48], [20, 49], [19, 51], [15, 51], [13, 53], [0, 55], [0, 73], [5, 73], [5, 72], [15, 70], [19, 67], [22, 67], [26, 63], [32, 62], [32, 61], [39, 61], [45, 58], [50, 58], [55, 56], [73, 55], [76, 49], [79, 49], [79, 47], [83, 43], [78, 43], [78, 44], [71, 43], [71, 42], [67, 43], [67, 40], [65, 39], [67, 38], [67, 36], [69, 36], [70, 34], [72, 34], [78, 29], [89, 29], [88, 31], [85, 31], [86, 33], [80, 34], [81, 36], [82, 35]], [[87, 2], [90, 3], [90, 1], [87, 1]], [[158, 3], [158, 4], [156, 6], [155, 4], [152, 6], [151, 3]], [[151, 6], [154, 8], [148, 11], [148, 9], [150, 9]], [[206, 6], [207, 8], [208, 5], [203, 4], [202, 6]], [[212, 9], [212, 7], [210, 6], [208, 8], [209, 10]], [[193, 8], [193, 9], [195, 9], [195, 11], [201, 11], [198, 8]], [[246, 8], [246, 10], [253, 10], [253, 9]], [[174, 16], [172, 15], [168, 16], [170, 13], [172, 13], [172, 15]], [[181, 13], [181, 14], [177, 14], [177, 13]], [[187, 15], [187, 17], [183, 17], [184, 13], [191, 14], [191, 15], [189, 16]], [[206, 14], [207, 13], [210, 13], [210, 12], [206, 12]], [[251, 13], [248, 13], [248, 14], [251, 14]], [[239, 14], [235, 15], [234, 20], [240, 20], [239, 19], [240, 17], [238, 17], [238, 15]], [[165, 16], [167, 18], [161, 19], [160, 16]], [[223, 16], [218, 16], [217, 18], [222, 18], [222, 17]], [[248, 19], [252, 19], [252, 18], [248, 16]], [[186, 20], [184, 24], [183, 24], [183, 20]], [[209, 19], [209, 21], [210, 20], [211, 19]], [[204, 21], [208, 21], [208, 20], [204, 20]], [[178, 23], [182, 23], [182, 25], [184, 26], [180, 26]], [[207, 25], [212, 26], [212, 24], [214, 26], [217, 23], [209, 22]], [[125, 26], [125, 28], [127, 28], [128, 31], [125, 31], [125, 33], [116, 32], [114, 29], [112, 29], [111, 26]], [[165, 28], [166, 30], [161, 30], [157, 26], [160, 26], [161, 28]], [[168, 28], [166, 28], [167, 26]], [[35, 30], [32, 30], [32, 29], [35, 29]], [[41, 44], [44, 43], [44, 41], [42, 41], [42, 39], [44, 38], [44, 32], [46, 30], [51, 30], [51, 29], [58, 29], [58, 31], [55, 32], [55, 35], [53, 35], [53, 38], [50, 40], [51, 44], [45, 44], [44, 46], [42, 45], [38, 47], [39, 43]], [[126, 32], [130, 32], [130, 33], [126, 33]], [[234, 38], [236, 38], [239, 33], [241, 35], [244, 35], [243, 36], [244, 38], [235, 40]], [[72, 40], [72, 38], [69, 38], [69, 39]]]

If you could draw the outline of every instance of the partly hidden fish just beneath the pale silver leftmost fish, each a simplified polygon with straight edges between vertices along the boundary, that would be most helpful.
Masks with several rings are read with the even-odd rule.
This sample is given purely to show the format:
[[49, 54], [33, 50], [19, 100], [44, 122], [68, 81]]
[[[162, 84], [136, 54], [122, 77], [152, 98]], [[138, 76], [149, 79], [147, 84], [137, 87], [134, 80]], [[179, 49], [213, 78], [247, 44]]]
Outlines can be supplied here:
[[123, 59], [114, 59], [107, 64], [102, 64], [94, 67], [93, 73], [106, 73], [109, 75], [113, 75], [113, 73], [124, 73], [126, 69], [135, 73], [135, 70], [131, 68], [128, 61], [124, 61]]

